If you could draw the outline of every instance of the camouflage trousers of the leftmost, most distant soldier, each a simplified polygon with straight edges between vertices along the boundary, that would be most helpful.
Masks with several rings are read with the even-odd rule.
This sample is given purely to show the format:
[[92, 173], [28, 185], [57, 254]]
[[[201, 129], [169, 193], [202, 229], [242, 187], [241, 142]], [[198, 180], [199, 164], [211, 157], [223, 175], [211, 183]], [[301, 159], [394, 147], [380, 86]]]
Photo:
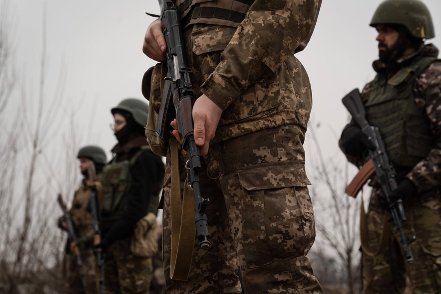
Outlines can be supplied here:
[[81, 249], [81, 263], [86, 280], [86, 291], [81, 281], [76, 257], [73, 254], [66, 254], [64, 257], [63, 275], [67, 293], [96, 293], [96, 259], [91, 248]]

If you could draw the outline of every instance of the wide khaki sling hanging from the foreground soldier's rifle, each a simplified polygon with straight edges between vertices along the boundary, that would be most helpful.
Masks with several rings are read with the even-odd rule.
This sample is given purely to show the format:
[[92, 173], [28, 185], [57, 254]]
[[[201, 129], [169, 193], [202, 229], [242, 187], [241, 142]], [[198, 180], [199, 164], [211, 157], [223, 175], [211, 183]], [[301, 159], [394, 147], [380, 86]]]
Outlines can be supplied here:
[[171, 156], [171, 264], [170, 277], [185, 281], [190, 272], [193, 256], [196, 226], [194, 224], [194, 193], [184, 185], [184, 197], [181, 200], [178, 144], [174, 136], [170, 138]]

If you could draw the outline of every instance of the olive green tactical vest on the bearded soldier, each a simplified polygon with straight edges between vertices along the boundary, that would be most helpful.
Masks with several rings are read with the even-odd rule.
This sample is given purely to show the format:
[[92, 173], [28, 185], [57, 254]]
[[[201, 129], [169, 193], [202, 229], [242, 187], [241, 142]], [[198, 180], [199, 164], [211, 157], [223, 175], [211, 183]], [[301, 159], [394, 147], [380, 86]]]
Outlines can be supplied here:
[[369, 94], [366, 118], [378, 127], [389, 160], [395, 166], [413, 167], [435, 147], [430, 121], [415, 103], [415, 79], [435, 58], [424, 57], [386, 80], [377, 75]]

